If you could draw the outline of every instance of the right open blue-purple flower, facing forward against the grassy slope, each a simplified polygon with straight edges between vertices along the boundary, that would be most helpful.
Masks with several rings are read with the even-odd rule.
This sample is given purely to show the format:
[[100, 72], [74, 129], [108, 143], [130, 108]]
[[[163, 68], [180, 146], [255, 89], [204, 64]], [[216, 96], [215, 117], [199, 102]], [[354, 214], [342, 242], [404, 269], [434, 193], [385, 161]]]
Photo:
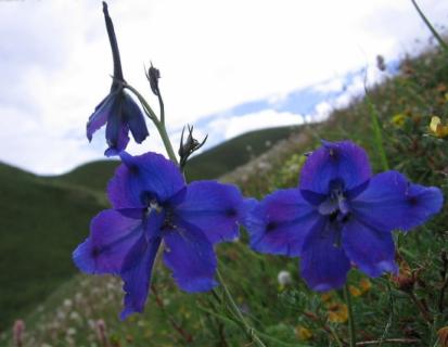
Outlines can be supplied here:
[[279, 190], [251, 211], [251, 247], [299, 256], [309, 287], [338, 288], [350, 262], [370, 277], [396, 272], [392, 231], [422, 224], [441, 204], [437, 188], [412, 184], [397, 171], [372, 177], [355, 143], [323, 142], [307, 158], [298, 188]]

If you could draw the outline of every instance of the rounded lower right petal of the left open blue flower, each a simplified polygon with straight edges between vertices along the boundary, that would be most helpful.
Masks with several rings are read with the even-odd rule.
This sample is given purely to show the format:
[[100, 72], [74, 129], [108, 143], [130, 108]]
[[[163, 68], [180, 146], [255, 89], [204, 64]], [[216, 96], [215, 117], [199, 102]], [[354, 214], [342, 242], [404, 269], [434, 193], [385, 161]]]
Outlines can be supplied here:
[[164, 242], [164, 261], [181, 290], [207, 292], [218, 284], [213, 245], [200, 229], [188, 224], [165, 229]]

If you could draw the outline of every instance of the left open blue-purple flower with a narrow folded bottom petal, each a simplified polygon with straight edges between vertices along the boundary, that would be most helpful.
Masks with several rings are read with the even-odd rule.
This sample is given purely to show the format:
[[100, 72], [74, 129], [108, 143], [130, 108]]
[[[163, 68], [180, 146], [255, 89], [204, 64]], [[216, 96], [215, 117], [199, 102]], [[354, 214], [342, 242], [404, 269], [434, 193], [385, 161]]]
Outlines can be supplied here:
[[179, 168], [159, 154], [130, 156], [110, 181], [112, 209], [91, 222], [90, 236], [74, 252], [87, 273], [118, 274], [124, 280], [121, 319], [141, 312], [146, 300], [157, 250], [185, 292], [217, 285], [214, 244], [239, 235], [251, 201], [235, 185], [216, 181], [185, 184]]

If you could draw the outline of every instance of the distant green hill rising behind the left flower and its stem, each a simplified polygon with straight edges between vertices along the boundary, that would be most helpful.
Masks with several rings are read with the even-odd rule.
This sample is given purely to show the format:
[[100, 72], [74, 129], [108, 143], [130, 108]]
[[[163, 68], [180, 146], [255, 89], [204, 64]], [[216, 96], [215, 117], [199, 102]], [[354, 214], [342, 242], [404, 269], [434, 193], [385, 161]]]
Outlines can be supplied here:
[[[251, 131], [218, 144], [194, 156], [188, 164], [188, 179], [213, 179], [235, 167], [247, 163], [251, 158], [264, 153], [278, 141], [286, 139], [299, 127], [279, 127]], [[85, 164], [60, 177], [49, 178], [51, 181], [86, 187], [104, 192], [107, 181], [114, 175], [118, 162], [101, 160]]]

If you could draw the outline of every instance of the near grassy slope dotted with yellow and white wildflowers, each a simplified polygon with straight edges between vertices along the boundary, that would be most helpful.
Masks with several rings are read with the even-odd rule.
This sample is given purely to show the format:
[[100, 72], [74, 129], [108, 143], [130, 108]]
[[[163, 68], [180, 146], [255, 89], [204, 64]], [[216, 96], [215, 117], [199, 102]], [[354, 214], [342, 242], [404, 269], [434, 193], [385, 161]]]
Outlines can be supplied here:
[[[251, 164], [244, 168], [246, 175], [233, 176], [232, 181], [247, 195], [259, 197], [294, 187], [303, 154], [316, 149], [319, 139], [350, 139], [367, 149], [374, 171], [385, 169], [384, 147], [389, 168], [414, 182], [439, 187], [447, 196], [448, 140], [430, 136], [433, 114], [445, 123], [448, 119], [448, 64], [440, 52], [402, 62], [401, 74], [371, 90], [369, 100], [355, 101], [335, 111], [328, 123], [302, 129], [305, 140], [290, 141], [289, 153], [279, 157], [271, 152], [264, 157], [264, 170]], [[235, 154], [227, 153], [221, 160]], [[76, 210], [73, 204], [67, 208]], [[368, 280], [357, 270], [350, 272], [357, 338], [370, 342], [364, 345], [437, 346], [437, 331], [448, 325], [447, 214], [445, 204], [425, 226], [406, 235], [395, 234], [401, 278], [384, 274]], [[267, 346], [347, 346], [347, 307], [342, 292], [321, 296], [309, 291], [298, 275], [296, 258], [254, 253], [246, 241], [243, 233], [239, 242], [217, 247], [219, 269], [236, 305]], [[291, 273], [289, 285], [279, 285], [281, 270]], [[94, 326], [101, 319], [113, 346], [251, 344], [220, 301], [221, 287], [214, 294], [182, 293], [162, 264], [154, 271], [153, 284], [155, 291], [144, 314], [120, 322], [120, 282], [112, 277], [79, 275], [27, 317], [26, 342], [31, 346], [100, 345]]]

